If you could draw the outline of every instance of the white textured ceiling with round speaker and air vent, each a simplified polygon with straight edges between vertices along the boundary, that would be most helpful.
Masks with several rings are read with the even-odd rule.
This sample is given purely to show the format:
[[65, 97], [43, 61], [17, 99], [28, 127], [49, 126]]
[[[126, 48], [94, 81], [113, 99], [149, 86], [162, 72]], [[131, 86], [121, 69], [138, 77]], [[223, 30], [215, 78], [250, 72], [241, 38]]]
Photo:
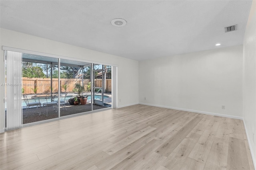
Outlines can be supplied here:
[[[1, 0], [0, 26], [134, 60], [243, 43], [247, 0]], [[124, 27], [110, 21], [122, 18]], [[237, 31], [224, 27], [238, 24]], [[221, 43], [220, 46], [215, 46]]]

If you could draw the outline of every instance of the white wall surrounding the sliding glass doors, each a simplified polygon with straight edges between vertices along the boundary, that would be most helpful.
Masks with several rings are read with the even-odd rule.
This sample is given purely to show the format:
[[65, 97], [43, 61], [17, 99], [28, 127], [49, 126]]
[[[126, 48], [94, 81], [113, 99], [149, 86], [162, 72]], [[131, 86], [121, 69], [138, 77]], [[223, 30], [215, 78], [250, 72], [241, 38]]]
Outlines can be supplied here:
[[[2, 46], [30, 51], [61, 55], [118, 65], [118, 104], [117, 107], [138, 104], [138, 61], [92, 51], [49, 39], [35, 37], [7, 29], [0, 29], [0, 84], [4, 83], [4, 51]], [[131, 83], [127, 83], [131, 82]], [[0, 87], [0, 132], [4, 129], [4, 87]], [[121, 100], [121, 101], [120, 101]], [[120, 101], [120, 102], [119, 102]]]

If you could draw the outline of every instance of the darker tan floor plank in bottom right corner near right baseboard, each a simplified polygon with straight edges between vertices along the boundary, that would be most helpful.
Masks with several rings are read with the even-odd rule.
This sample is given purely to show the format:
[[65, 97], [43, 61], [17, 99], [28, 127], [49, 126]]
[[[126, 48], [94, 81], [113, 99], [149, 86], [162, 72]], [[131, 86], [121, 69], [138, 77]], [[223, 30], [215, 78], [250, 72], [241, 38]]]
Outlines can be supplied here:
[[244, 140], [234, 137], [229, 138], [227, 168], [237, 170], [250, 169]]

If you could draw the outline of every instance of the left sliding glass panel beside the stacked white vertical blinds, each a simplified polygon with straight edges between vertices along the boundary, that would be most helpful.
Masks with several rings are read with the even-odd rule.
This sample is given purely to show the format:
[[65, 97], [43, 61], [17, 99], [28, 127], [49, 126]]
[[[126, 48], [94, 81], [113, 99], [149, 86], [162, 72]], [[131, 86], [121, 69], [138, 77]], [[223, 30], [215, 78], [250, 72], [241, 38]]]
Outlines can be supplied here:
[[22, 53], [23, 124], [59, 117], [58, 59]]

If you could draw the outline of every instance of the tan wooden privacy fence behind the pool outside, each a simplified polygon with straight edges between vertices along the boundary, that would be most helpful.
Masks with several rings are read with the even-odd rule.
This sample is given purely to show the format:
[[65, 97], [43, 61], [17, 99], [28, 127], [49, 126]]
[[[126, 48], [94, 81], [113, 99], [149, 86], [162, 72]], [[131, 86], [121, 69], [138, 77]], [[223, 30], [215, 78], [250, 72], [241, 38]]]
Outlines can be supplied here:
[[[84, 79], [84, 87], [90, 82], [90, 79]], [[81, 79], [76, 78], [60, 78], [60, 92], [65, 92], [63, 85], [67, 85], [68, 88], [66, 92], [74, 92], [74, 84], [80, 83], [82, 84]], [[94, 84], [96, 87], [102, 87], [102, 79], [94, 80]], [[52, 78], [52, 86], [50, 78], [28, 78], [22, 77], [22, 88], [24, 90], [23, 94], [34, 94], [34, 91], [37, 94], [40, 93], [50, 93], [52, 87], [52, 92], [58, 92], [58, 78]], [[106, 92], [111, 92], [111, 79], [106, 79]]]

